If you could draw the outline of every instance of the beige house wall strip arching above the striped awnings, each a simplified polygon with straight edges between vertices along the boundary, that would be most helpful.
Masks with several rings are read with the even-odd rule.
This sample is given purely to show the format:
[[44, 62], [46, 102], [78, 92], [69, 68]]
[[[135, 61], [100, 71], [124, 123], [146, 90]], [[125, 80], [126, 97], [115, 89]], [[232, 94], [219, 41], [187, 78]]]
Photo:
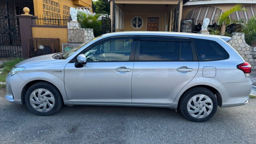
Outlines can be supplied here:
[[[224, 12], [226, 10], [229, 10], [234, 6], [235, 4], [202, 4], [202, 5], [191, 5], [191, 6], [183, 6], [182, 10], [182, 20], [186, 20], [187, 14], [190, 12], [190, 10], [193, 10], [194, 8], [198, 8], [200, 6], [215, 6], [220, 9], [222, 9]], [[256, 6], [256, 4], [242, 4], [244, 6], [251, 5], [251, 6]]]

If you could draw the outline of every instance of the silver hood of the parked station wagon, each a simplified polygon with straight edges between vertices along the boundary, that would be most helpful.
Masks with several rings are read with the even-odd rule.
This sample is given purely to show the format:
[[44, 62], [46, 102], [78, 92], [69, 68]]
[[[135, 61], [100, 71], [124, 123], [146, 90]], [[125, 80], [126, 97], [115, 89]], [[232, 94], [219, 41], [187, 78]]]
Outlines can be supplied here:
[[[57, 53], [55, 53], [57, 54]], [[62, 60], [56, 60], [52, 58], [55, 54], [46, 54], [43, 56], [36, 56], [34, 58], [26, 59], [18, 64], [16, 64], [16, 67], [25, 67], [26, 66], [43, 66], [43, 64], [54, 64], [58, 61]]]

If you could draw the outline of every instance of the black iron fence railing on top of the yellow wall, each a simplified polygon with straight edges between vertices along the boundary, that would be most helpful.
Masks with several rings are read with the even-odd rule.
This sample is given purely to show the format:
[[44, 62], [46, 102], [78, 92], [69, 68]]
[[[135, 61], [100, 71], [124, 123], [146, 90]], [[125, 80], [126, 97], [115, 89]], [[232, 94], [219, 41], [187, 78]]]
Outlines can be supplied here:
[[32, 18], [32, 24], [45, 26], [67, 26], [68, 19], [61, 19], [54, 16], [37, 16], [37, 18]]

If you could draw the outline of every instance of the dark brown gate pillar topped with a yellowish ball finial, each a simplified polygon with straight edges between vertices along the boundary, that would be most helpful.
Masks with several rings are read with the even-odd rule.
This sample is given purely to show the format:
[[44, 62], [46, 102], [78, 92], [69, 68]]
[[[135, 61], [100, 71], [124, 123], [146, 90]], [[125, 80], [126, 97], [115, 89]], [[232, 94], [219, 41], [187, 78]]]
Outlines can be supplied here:
[[23, 58], [29, 58], [28, 53], [28, 38], [32, 37], [32, 18], [36, 18], [36, 16], [32, 16], [29, 13], [29, 8], [23, 9], [25, 14], [16, 15], [19, 18], [20, 22], [20, 39], [21, 39], [21, 47]]

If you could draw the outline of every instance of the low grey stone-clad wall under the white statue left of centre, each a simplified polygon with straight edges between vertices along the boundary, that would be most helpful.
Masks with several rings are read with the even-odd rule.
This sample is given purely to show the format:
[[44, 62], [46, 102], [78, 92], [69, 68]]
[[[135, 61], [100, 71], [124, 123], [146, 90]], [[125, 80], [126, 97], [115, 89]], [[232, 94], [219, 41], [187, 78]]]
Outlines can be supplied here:
[[78, 22], [68, 22], [68, 43], [84, 43], [92, 39], [92, 28], [80, 28]]

